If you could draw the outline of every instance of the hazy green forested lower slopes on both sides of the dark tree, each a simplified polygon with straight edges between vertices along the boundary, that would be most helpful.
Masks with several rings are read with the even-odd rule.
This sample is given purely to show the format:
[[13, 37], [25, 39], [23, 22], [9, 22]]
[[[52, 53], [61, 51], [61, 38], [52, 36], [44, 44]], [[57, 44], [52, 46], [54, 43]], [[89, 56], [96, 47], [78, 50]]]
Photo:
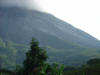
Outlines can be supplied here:
[[[80, 66], [87, 60], [100, 57], [99, 49], [76, 47], [76, 48], [53, 48], [44, 47], [47, 51], [48, 62], [58, 62], [60, 64]], [[14, 69], [16, 64], [22, 64], [25, 53], [28, 51], [29, 45], [16, 44], [9, 40], [0, 38], [0, 66], [1, 68]], [[83, 62], [84, 61], [84, 62]]]

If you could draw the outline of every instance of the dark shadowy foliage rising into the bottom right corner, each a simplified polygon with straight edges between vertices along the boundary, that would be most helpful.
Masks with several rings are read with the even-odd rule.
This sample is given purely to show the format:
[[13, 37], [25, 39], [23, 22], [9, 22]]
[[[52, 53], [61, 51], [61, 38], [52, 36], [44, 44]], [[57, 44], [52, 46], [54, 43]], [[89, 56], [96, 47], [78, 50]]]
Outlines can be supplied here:
[[100, 59], [91, 59], [86, 65], [65, 70], [64, 75], [100, 75]]

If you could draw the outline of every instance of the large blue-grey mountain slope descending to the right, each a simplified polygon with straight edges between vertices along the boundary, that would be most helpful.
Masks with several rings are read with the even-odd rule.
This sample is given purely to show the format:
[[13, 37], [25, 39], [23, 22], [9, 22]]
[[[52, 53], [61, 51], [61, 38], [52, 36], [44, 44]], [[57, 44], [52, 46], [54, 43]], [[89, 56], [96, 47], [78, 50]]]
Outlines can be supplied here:
[[[49, 62], [79, 65], [91, 57], [99, 57], [100, 41], [71, 24], [36, 10], [0, 7], [0, 38], [5, 45], [8, 41], [12, 43], [16, 56], [24, 56], [27, 51], [24, 48], [28, 49], [32, 37], [46, 47]], [[0, 51], [2, 48], [10, 50], [7, 45], [1, 46]], [[25, 51], [18, 52], [22, 48]]]

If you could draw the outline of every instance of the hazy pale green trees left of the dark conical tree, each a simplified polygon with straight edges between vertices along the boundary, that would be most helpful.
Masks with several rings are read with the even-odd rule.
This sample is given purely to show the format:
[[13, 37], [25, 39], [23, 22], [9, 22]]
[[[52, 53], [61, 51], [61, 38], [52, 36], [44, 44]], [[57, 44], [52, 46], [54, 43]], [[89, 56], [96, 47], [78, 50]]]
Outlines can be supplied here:
[[0, 38], [0, 68], [14, 69], [16, 64], [21, 64], [28, 46], [3, 41]]

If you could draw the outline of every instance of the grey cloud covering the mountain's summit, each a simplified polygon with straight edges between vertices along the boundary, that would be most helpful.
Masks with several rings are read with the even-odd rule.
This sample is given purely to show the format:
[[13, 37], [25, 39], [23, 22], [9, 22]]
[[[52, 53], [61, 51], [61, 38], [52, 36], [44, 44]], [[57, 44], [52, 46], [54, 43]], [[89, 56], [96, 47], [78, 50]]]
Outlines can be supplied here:
[[38, 3], [35, 0], [0, 0], [0, 6], [3, 7], [25, 7], [29, 9], [40, 10]]

